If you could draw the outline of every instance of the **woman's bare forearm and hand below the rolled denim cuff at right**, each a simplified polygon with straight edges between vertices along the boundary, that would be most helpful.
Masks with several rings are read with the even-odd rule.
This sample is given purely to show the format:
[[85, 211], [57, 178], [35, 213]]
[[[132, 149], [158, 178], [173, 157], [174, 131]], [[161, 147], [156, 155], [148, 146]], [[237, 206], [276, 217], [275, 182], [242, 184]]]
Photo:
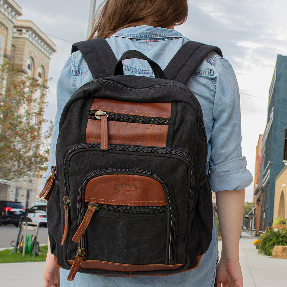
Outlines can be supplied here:
[[239, 238], [244, 209], [245, 191], [217, 191], [216, 207], [222, 237], [221, 257], [216, 269], [216, 284], [220, 287], [242, 287], [239, 263]]

